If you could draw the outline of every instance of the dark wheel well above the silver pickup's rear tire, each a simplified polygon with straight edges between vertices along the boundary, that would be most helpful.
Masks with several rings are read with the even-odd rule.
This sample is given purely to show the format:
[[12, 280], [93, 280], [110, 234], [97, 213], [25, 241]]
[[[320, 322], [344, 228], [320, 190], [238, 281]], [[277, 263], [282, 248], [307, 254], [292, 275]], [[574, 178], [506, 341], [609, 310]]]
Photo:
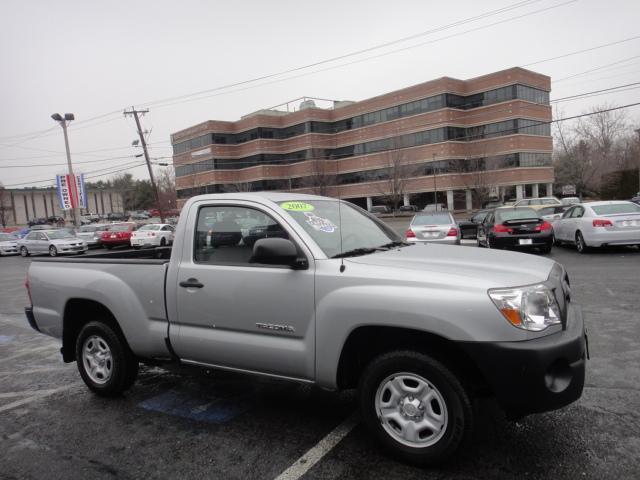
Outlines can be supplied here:
[[67, 302], [62, 322], [62, 359], [73, 362], [76, 359], [76, 339], [87, 323], [99, 320], [112, 327], [122, 338], [122, 330], [111, 311], [94, 300], [74, 298]]

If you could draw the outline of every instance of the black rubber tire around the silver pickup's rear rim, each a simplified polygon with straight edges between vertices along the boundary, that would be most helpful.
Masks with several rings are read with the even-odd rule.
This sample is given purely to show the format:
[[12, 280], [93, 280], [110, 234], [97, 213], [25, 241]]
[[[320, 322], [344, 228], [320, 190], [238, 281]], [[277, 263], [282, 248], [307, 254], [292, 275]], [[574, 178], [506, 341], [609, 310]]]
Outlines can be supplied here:
[[[86, 346], [90, 346], [91, 342], [99, 343], [100, 341], [107, 346], [110, 352], [110, 362], [105, 362], [110, 373], [108, 376], [103, 375], [103, 381], [96, 380], [97, 375], [88, 371], [90, 363], [83, 356], [85, 342], [87, 342]], [[76, 339], [76, 363], [80, 376], [87, 387], [102, 397], [121, 395], [133, 385], [138, 376], [138, 361], [122, 335], [110, 325], [100, 321], [89, 322], [80, 331]]]

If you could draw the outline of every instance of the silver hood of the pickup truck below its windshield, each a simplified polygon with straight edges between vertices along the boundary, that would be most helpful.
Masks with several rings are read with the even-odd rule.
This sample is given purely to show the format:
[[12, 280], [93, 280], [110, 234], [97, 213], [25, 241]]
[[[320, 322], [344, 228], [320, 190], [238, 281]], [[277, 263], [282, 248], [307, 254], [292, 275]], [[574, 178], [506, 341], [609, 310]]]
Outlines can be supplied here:
[[[483, 248], [415, 244], [392, 250], [349, 257], [345, 262], [381, 267], [396, 277], [397, 270], [408, 278], [427, 274], [428, 282], [437, 282], [438, 274], [445, 279], [462, 279], [463, 283], [482, 284], [486, 288], [529, 285], [546, 280], [555, 265], [553, 260], [534, 254], [487, 250]], [[394, 271], [392, 273], [392, 271]]]

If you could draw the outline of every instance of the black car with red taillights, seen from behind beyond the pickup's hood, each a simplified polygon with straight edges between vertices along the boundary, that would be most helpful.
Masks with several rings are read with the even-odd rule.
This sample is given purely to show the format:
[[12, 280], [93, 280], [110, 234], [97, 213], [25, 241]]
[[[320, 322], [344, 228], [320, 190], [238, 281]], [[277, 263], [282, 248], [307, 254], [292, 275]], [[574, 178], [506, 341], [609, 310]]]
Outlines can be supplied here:
[[489, 213], [478, 227], [478, 246], [505, 249], [538, 248], [549, 253], [553, 227], [530, 207], [501, 207]]

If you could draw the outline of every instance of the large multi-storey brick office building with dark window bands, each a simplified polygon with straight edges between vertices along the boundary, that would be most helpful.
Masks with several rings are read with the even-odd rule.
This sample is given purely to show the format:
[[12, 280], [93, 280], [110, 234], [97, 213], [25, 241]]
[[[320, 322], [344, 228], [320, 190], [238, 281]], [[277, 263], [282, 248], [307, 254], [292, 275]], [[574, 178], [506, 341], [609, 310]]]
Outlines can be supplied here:
[[548, 76], [511, 68], [327, 108], [305, 98], [295, 111], [206, 121], [171, 135], [179, 205], [202, 193], [280, 190], [371, 207], [388, 197], [398, 159], [410, 172], [405, 204], [434, 203], [434, 192], [452, 210], [477, 207], [481, 190], [550, 195], [550, 87]]

